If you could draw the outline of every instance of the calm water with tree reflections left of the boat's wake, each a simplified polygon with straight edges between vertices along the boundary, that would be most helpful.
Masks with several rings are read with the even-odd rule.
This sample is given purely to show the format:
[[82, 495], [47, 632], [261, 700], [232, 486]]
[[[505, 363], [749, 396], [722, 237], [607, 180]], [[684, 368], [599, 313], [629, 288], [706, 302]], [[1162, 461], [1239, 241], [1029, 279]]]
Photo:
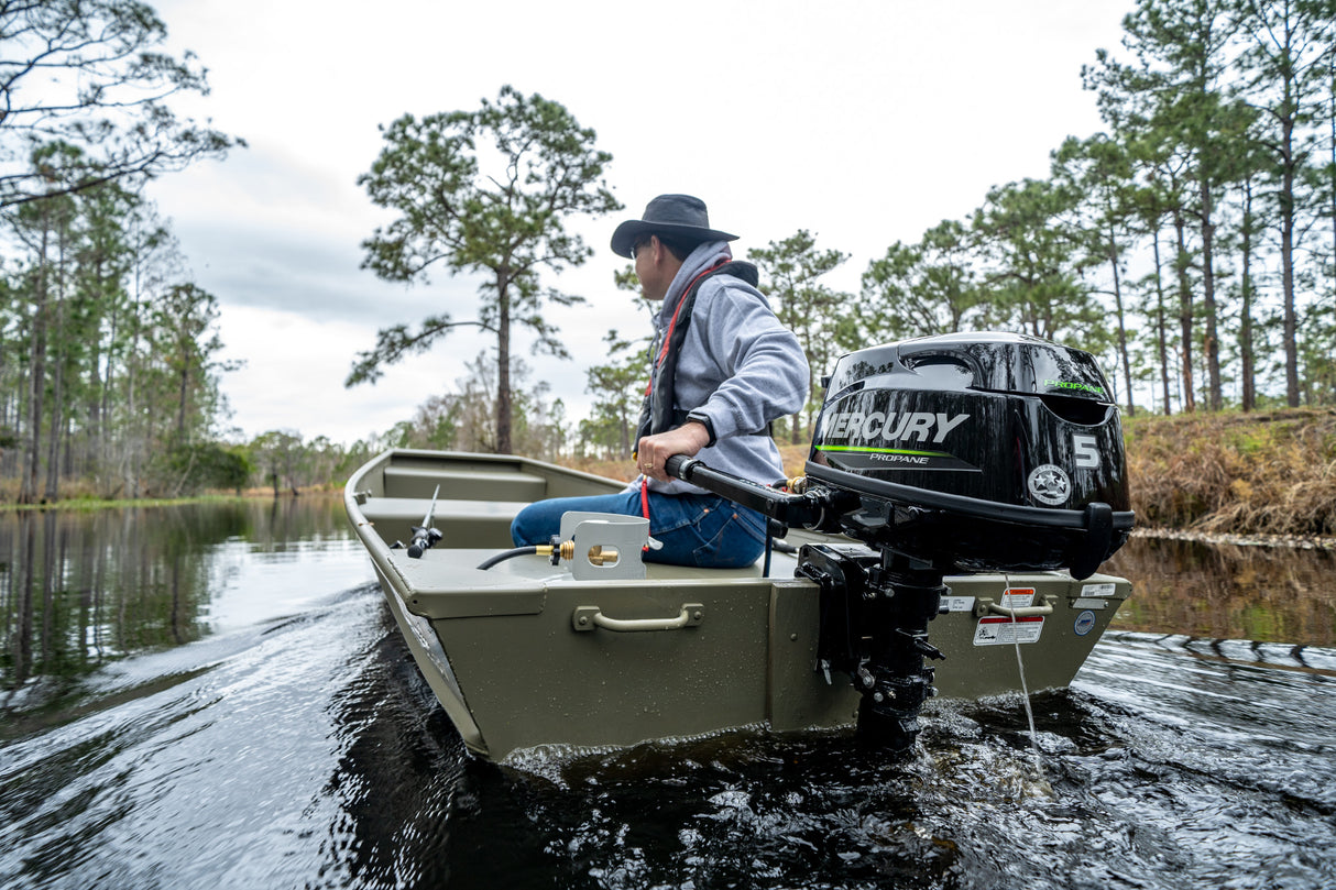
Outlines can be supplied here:
[[250, 555], [331, 536], [349, 540], [333, 497], [0, 514], [0, 738], [111, 661], [223, 629]]

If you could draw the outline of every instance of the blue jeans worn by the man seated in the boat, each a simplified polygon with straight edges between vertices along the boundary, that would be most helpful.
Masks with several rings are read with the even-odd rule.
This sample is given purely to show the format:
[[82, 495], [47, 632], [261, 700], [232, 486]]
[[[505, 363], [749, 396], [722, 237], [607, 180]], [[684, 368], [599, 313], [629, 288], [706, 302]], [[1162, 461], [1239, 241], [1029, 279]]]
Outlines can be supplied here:
[[[514, 545], [546, 544], [561, 531], [561, 514], [566, 510], [643, 516], [640, 492], [553, 497], [520, 510], [510, 523]], [[647, 563], [741, 568], [755, 563], [766, 549], [766, 517], [717, 494], [649, 492], [649, 535], [663, 548], [647, 551]]]

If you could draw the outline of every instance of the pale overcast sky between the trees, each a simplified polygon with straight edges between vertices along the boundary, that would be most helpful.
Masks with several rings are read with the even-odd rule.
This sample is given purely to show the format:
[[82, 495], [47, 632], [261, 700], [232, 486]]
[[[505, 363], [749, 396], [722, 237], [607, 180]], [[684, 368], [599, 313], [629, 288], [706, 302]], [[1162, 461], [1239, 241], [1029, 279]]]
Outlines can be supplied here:
[[830, 283], [856, 290], [895, 241], [959, 219], [989, 187], [1045, 176], [1067, 135], [1100, 128], [1081, 67], [1118, 49], [1133, 0], [787, 0], [673, 4], [506, 0], [158, 0], [171, 45], [208, 68], [180, 103], [250, 147], [154, 183], [198, 285], [222, 305], [223, 378], [244, 437], [287, 429], [351, 444], [381, 433], [492, 343], [464, 329], [377, 385], [347, 390], [379, 327], [472, 318], [476, 283], [444, 270], [391, 285], [359, 269], [390, 216], [357, 186], [405, 112], [474, 110], [504, 84], [564, 104], [612, 154], [625, 210], [578, 219], [595, 257], [545, 285], [584, 295], [553, 310], [573, 361], [516, 353], [568, 416], [609, 327], [644, 333], [616, 291], [616, 223], [689, 192], [745, 258], [808, 229], [851, 254]]

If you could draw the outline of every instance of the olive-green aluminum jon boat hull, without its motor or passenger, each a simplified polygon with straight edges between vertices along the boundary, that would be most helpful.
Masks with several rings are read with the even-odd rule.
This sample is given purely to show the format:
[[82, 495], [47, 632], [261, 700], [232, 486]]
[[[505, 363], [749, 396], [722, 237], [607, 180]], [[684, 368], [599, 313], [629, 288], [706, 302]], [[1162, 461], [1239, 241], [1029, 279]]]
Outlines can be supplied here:
[[[842, 663], [848, 641], [830, 636], [858, 616], [832, 611], [830, 577], [799, 571], [796, 553], [744, 569], [647, 565], [641, 529], [584, 514], [556, 565], [526, 553], [480, 568], [512, 548], [510, 520], [525, 504], [623, 485], [522, 457], [425, 450], [386, 452], [349, 480], [349, 518], [468, 748], [502, 760], [536, 746], [854, 724], [866, 694], [880, 692], [870, 692], [867, 656], [848, 661], [846, 652]], [[402, 543], [428, 527], [440, 540], [410, 556]], [[794, 528], [784, 541], [824, 555], [823, 565], [847, 560], [831, 569], [842, 577], [878, 559], [822, 531]], [[945, 656], [934, 657], [935, 676], [919, 674], [949, 698], [1018, 690], [1017, 651], [1031, 691], [1066, 687], [1130, 592], [1121, 579], [1078, 581], [1065, 571], [947, 575], [943, 584], [931, 600], [931, 643], [910, 641]], [[878, 679], [876, 688], [904, 695], [903, 684]], [[915, 714], [896, 720], [907, 726]]]

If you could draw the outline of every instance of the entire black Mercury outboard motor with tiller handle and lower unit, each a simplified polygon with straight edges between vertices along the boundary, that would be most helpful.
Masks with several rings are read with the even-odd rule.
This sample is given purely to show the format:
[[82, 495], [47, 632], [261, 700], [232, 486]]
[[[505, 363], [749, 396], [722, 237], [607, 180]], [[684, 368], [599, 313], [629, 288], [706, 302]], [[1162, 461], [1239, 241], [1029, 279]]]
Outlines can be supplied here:
[[818, 667], [852, 678], [862, 735], [903, 750], [934, 694], [923, 659], [942, 657], [927, 625], [947, 573], [1065, 568], [1083, 579], [1126, 541], [1118, 409], [1090, 354], [1006, 333], [858, 350], [836, 362], [826, 393], [804, 492], [691, 460], [672, 458], [669, 472], [780, 529], [866, 545], [804, 545], [798, 572], [822, 589]]

